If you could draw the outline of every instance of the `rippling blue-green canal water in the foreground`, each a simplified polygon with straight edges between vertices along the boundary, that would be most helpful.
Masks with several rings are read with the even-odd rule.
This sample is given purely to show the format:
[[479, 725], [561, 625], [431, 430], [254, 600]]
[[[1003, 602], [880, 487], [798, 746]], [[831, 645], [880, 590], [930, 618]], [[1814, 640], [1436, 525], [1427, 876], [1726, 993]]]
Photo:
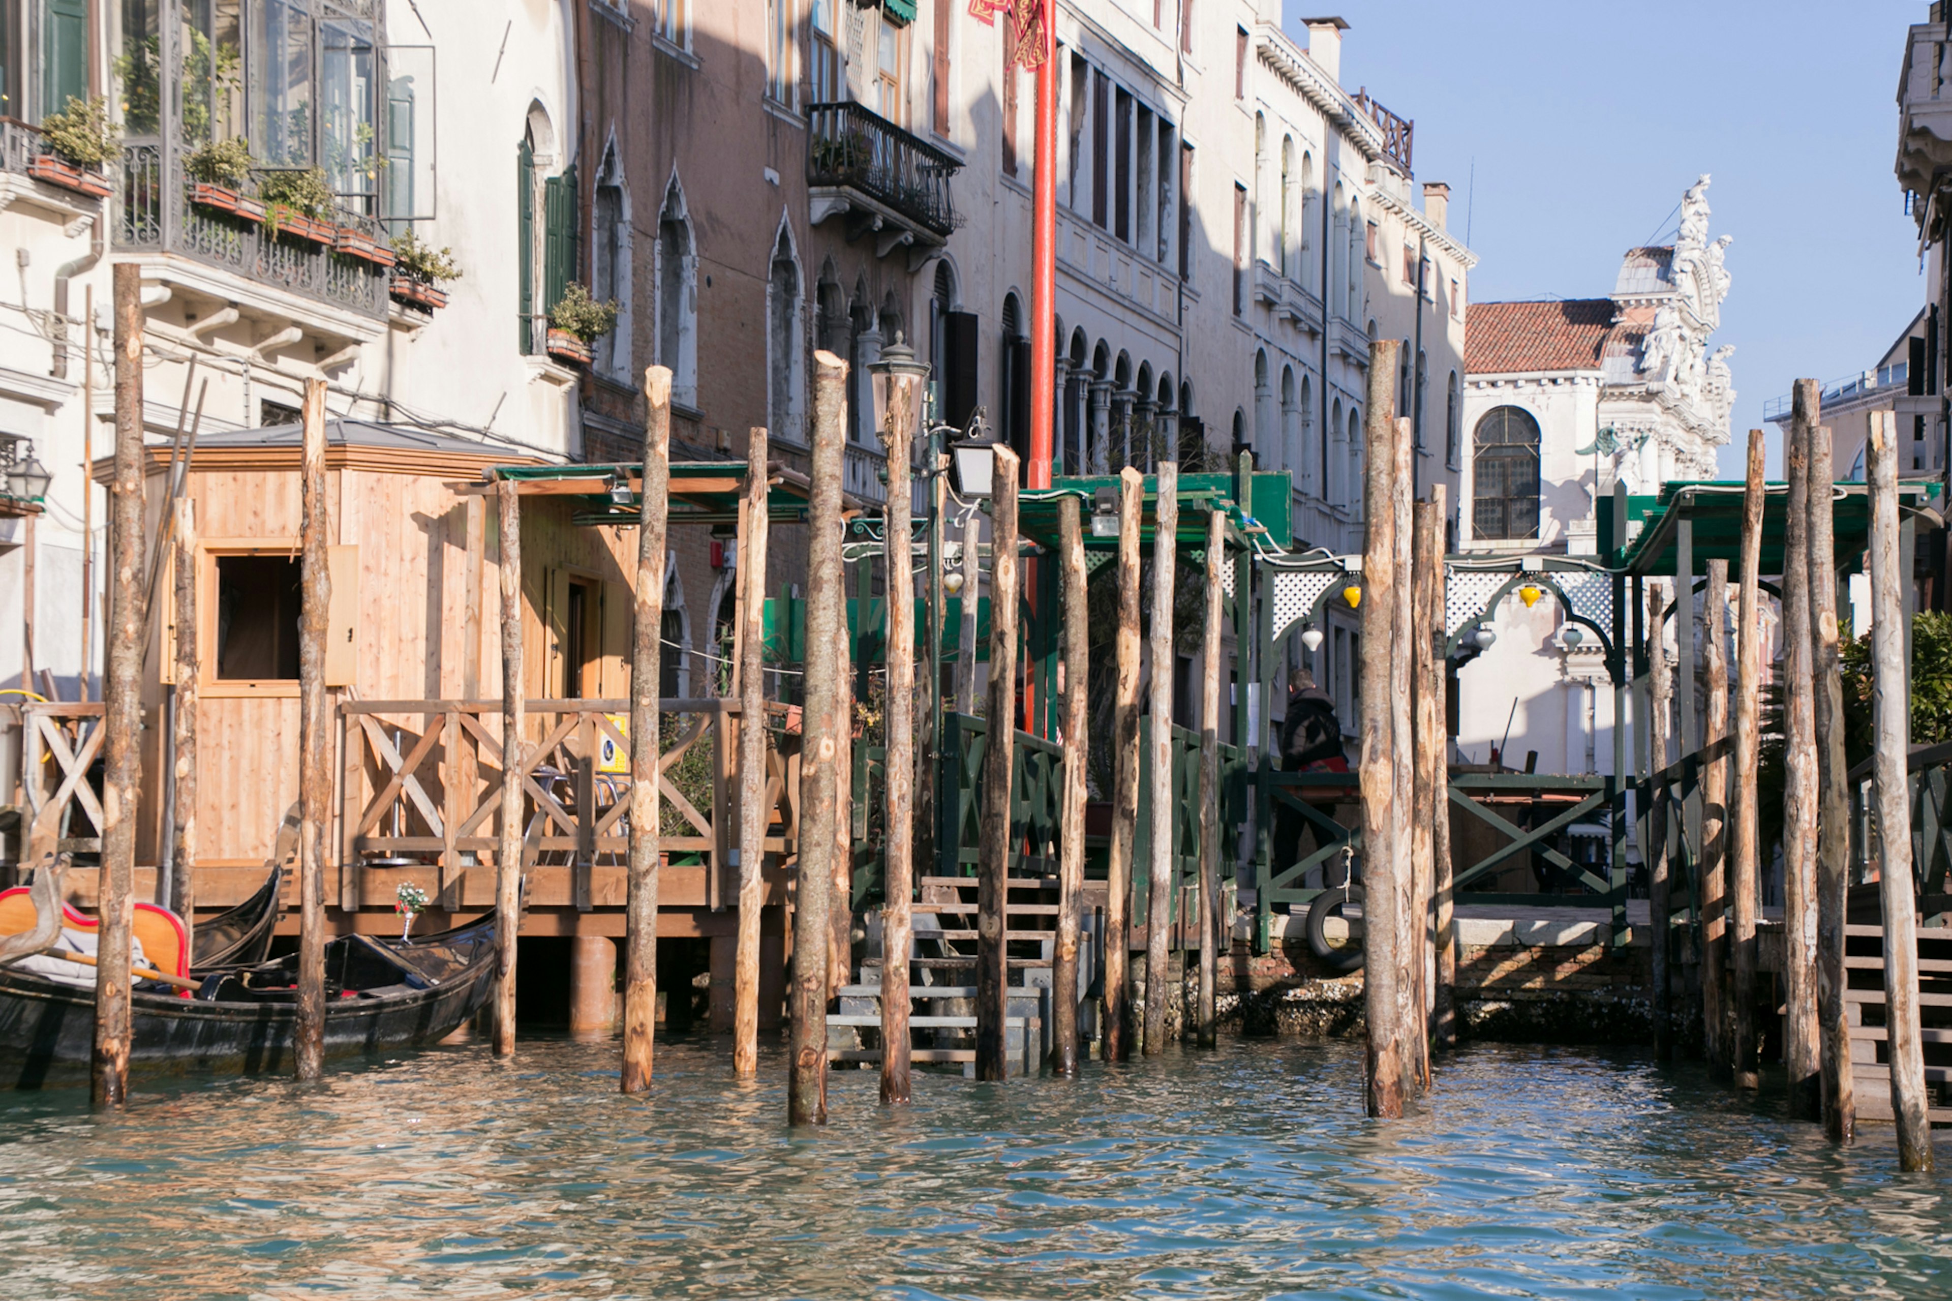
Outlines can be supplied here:
[[837, 1072], [804, 1137], [779, 1053], [613, 1070], [529, 1039], [100, 1119], [0, 1094], [0, 1297], [1952, 1297], [1952, 1176], [1636, 1055], [1468, 1049], [1394, 1125], [1351, 1043], [919, 1074], [904, 1112]]

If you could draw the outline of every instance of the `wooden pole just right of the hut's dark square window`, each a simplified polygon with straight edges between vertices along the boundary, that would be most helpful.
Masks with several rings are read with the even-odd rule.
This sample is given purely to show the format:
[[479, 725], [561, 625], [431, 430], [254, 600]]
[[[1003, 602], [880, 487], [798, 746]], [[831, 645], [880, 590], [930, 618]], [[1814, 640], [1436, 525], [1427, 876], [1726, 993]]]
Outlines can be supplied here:
[[332, 725], [326, 717], [326, 629], [332, 572], [326, 547], [326, 381], [305, 381], [299, 488], [303, 496], [299, 602], [299, 1008], [291, 1041], [299, 1078], [316, 1080], [326, 1057], [326, 828], [332, 824]]

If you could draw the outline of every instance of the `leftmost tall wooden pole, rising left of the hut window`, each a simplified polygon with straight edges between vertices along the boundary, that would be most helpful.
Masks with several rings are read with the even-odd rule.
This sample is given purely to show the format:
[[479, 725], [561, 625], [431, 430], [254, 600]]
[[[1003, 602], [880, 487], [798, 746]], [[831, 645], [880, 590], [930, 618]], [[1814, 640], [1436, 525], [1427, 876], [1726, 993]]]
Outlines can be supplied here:
[[[88, 322], [94, 332], [94, 320]], [[92, 350], [90, 350], [92, 352]], [[84, 465], [94, 492], [94, 467]], [[94, 539], [84, 539], [94, 549]], [[135, 936], [135, 830], [142, 785], [142, 279], [115, 266], [115, 483], [109, 490], [107, 678], [102, 699], [102, 885], [96, 947], [96, 1037], [90, 1098], [98, 1108], [129, 1102], [129, 945]], [[84, 621], [86, 631], [86, 621]], [[82, 664], [88, 699], [88, 664]]]

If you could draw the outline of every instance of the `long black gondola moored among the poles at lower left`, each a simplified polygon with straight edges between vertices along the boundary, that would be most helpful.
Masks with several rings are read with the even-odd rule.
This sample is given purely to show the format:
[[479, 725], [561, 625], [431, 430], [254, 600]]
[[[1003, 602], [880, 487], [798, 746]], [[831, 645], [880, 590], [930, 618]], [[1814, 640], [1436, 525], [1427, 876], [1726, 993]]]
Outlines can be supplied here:
[[[326, 944], [326, 1055], [439, 1043], [488, 1000], [494, 918], [424, 940], [342, 936]], [[293, 1069], [297, 955], [197, 973], [189, 994], [137, 983], [129, 1063], [141, 1070]], [[185, 996], [187, 994], [187, 996]], [[82, 1078], [96, 992], [0, 967], [0, 1086]]]

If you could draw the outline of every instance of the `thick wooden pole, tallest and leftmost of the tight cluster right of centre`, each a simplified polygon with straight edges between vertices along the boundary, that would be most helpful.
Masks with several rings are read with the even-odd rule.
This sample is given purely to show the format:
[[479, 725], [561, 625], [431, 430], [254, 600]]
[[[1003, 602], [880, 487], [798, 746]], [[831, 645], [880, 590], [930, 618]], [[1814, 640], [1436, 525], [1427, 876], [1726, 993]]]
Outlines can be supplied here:
[[1402, 1008], [1396, 947], [1396, 340], [1368, 348], [1368, 424], [1362, 447], [1362, 1002], [1368, 1022], [1364, 1102], [1370, 1115], [1403, 1113]]

